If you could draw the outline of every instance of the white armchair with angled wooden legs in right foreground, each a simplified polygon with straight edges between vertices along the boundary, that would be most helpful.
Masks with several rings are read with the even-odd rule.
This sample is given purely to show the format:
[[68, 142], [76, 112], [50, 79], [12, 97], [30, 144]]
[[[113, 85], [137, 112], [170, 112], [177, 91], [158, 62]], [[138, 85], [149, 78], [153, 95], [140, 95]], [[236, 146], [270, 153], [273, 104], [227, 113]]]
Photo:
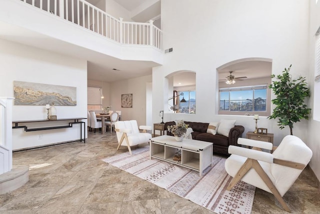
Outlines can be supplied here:
[[[290, 212], [282, 196], [308, 164], [312, 151], [293, 135], [285, 136], [278, 147], [245, 138], [239, 138], [237, 143], [252, 146], [252, 149], [229, 146], [231, 156], [226, 159], [224, 167], [233, 179], [226, 189], [230, 190], [242, 180], [272, 193], [283, 209]], [[274, 151], [268, 153], [261, 149]]]

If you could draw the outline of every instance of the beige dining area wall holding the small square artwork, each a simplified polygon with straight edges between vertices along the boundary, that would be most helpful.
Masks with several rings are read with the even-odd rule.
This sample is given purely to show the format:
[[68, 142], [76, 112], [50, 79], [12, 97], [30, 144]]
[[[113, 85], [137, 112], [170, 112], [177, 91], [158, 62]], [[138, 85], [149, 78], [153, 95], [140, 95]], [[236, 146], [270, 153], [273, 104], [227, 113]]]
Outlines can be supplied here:
[[[138, 125], [146, 124], [146, 89], [152, 82], [152, 76], [122, 80], [110, 85], [112, 110], [121, 111], [121, 120], [136, 120]], [[121, 108], [121, 94], [132, 94], [132, 108]], [[153, 95], [152, 95], [153, 96]], [[157, 113], [157, 118], [159, 111]]]

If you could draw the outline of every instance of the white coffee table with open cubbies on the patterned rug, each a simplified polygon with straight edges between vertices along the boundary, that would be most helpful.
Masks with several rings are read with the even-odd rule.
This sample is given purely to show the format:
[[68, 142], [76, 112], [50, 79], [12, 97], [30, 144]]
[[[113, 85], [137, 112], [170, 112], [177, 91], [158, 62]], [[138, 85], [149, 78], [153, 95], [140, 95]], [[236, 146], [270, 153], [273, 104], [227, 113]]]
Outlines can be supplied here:
[[[173, 156], [181, 150], [181, 161]], [[150, 159], [157, 158], [195, 171], [202, 176], [203, 170], [212, 166], [213, 143], [183, 139], [177, 142], [173, 136], [162, 135], [150, 139]]]

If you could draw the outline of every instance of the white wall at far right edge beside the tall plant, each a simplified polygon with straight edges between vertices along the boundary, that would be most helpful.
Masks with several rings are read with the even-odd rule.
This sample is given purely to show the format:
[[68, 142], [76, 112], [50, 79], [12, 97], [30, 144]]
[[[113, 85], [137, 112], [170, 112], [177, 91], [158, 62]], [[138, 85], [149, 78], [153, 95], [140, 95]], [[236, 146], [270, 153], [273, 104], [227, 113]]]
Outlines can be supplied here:
[[[315, 1], [310, 0], [310, 28], [309, 28], [309, 74], [308, 74], [308, 82], [309, 88], [311, 89], [311, 97], [310, 97], [310, 108], [311, 115], [308, 121], [308, 128], [306, 132], [308, 133], [307, 138], [307, 145], [311, 148], [313, 154], [311, 161], [309, 163], [310, 167], [312, 168], [313, 172], [317, 176], [318, 180], [320, 180], [320, 138], [318, 136], [318, 131], [320, 129], [320, 121], [313, 119], [314, 111], [319, 113], [319, 108], [314, 108], [315, 106], [319, 106], [319, 99], [315, 99], [315, 97], [319, 97], [319, 90], [315, 90], [315, 88], [319, 88], [320, 83], [314, 83], [314, 53], [315, 53], [315, 32], [320, 27], [320, 1], [317, 2], [315, 5]], [[317, 102], [317, 103], [316, 103]], [[314, 106], [315, 104], [315, 106]], [[293, 129], [294, 130], [294, 129]]]

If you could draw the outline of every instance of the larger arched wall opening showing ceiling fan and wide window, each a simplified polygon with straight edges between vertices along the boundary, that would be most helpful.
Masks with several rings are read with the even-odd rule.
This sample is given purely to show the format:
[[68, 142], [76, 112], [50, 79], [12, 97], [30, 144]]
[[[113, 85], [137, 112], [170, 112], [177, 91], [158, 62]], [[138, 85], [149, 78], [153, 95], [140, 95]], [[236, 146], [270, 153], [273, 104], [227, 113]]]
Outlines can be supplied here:
[[269, 116], [272, 60], [243, 58], [216, 69], [216, 112], [221, 115]]

